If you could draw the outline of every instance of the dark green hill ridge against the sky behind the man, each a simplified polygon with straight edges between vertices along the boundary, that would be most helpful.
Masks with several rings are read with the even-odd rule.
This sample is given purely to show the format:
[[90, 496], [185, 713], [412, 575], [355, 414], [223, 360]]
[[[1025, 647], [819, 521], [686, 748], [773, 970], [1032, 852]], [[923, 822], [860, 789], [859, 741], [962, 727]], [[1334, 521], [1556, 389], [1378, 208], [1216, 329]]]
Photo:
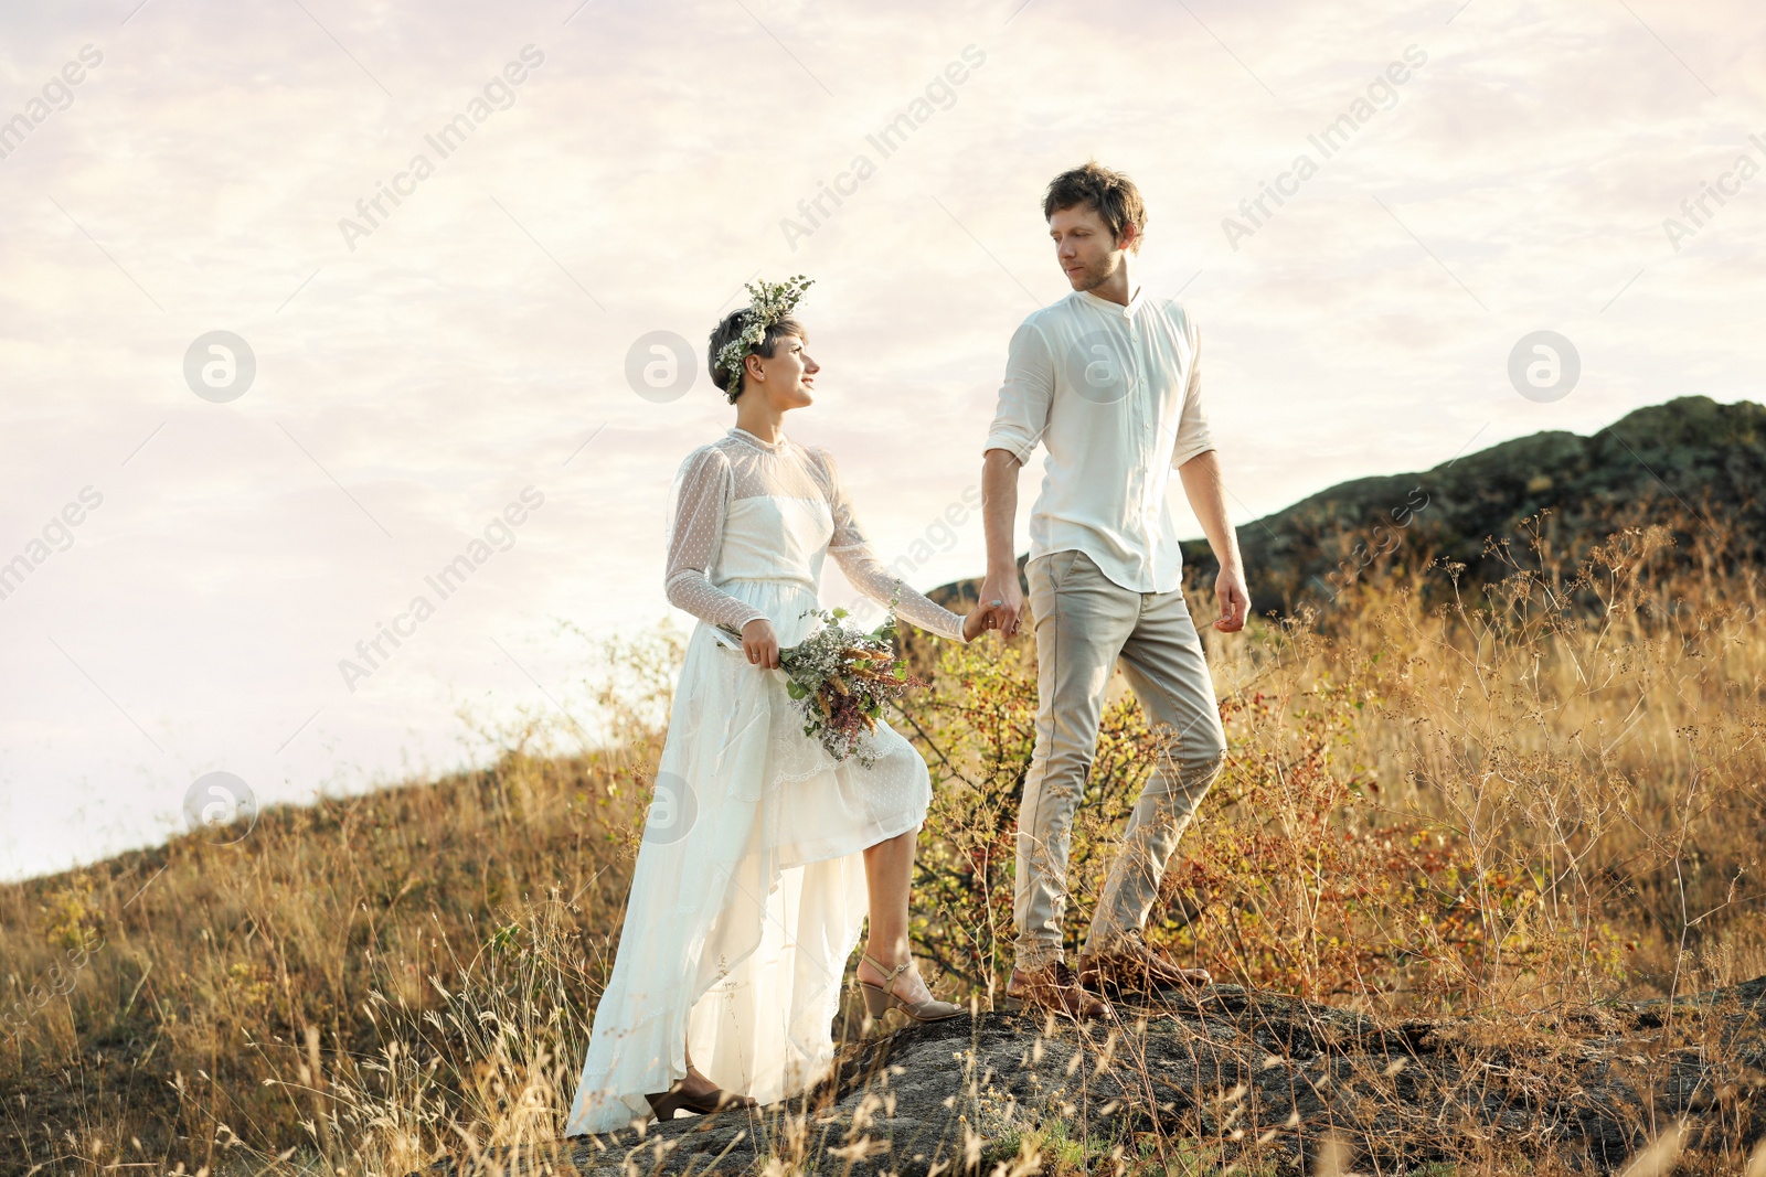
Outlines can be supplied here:
[[[1683, 549], [1701, 538], [1731, 559], [1759, 558], [1759, 485], [1766, 406], [1692, 395], [1632, 409], [1591, 434], [1547, 429], [1429, 469], [1349, 478], [1238, 524], [1238, 542], [1252, 611], [1291, 614], [1360, 577], [1404, 579], [1438, 559], [1464, 565], [1464, 586], [1499, 581], [1512, 570], [1499, 545], [1526, 552], [1529, 519], [1570, 565], [1611, 533], [1649, 522], [1671, 526]], [[1183, 565], [1192, 584], [1211, 579], [1206, 540], [1183, 542]], [[971, 577], [929, 596], [948, 603], [978, 589]]]

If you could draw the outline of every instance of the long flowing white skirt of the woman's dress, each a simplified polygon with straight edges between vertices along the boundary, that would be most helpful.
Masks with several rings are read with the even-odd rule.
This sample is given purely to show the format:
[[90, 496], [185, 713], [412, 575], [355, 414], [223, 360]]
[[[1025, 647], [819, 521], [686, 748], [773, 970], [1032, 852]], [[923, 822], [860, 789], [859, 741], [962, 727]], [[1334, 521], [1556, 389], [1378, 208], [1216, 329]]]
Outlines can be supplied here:
[[[721, 586], [781, 646], [814, 625], [795, 581]], [[834, 1062], [841, 978], [865, 918], [865, 847], [917, 829], [925, 761], [887, 723], [835, 761], [804, 734], [781, 671], [699, 625], [687, 642], [613, 976], [565, 1135], [648, 1119], [646, 1092], [694, 1066], [774, 1103]]]

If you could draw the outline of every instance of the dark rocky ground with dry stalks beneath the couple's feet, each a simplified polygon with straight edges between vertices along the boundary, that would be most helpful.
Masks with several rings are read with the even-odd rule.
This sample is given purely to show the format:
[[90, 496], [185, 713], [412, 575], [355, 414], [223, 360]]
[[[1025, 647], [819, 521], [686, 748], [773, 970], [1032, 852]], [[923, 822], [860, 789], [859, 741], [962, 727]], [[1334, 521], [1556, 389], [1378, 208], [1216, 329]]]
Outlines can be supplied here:
[[1616, 1172], [1664, 1142], [1745, 1158], [1766, 1129], [1762, 1015], [1766, 978], [1528, 1022], [1379, 1020], [1227, 985], [1086, 1025], [980, 1013], [853, 1043], [839, 1076], [791, 1106], [429, 1173], [701, 1175], [777, 1159], [1012, 1177], [1180, 1158], [1298, 1173], [1326, 1147], [1360, 1172], [1469, 1158]]

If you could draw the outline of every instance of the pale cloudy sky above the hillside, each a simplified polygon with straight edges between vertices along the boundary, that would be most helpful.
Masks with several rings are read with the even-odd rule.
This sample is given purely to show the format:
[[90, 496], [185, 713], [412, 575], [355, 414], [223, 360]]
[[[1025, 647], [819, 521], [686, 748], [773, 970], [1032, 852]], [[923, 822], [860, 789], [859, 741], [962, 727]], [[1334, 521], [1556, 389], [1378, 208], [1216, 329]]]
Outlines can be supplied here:
[[1743, 0], [7, 0], [0, 877], [161, 842], [215, 780], [300, 801], [592, 723], [595, 642], [691, 621], [668, 496], [733, 424], [703, 351], [749, 281], [814, 279], [788, 432], [879, 554], [978, 574], [1007, 341], [1068, 289], [1042, 191], [1086, 159], [1201, 325], [1240, 526], [1766, 399], [1762, 34]]

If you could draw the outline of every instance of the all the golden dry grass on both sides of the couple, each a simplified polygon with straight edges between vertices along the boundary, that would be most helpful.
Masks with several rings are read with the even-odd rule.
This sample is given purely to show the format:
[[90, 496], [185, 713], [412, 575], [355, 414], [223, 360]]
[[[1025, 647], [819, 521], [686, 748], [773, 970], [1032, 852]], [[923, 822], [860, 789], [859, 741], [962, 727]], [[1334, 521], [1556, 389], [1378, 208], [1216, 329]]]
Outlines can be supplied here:
[[[1766, 972], [1759, 584], [1667, 561], [1665, 535], [1616, 535], [1579, 568], [1515, 554], [1476, 598], [1432, 568], [1204, 630], [1231, 764], [1150, 933], [1222, 979], [1471, 1013], [1492, 1034]], [[1445, 607], [1422, 603], [1425, 581]], [[0, 1172], [394, 1175], [440, 1149], [549, 1147], [676, 646], [627, 651], [592, 752], [535, 720], [484, 771], [0, 889]], [[909, 704], [936, 782], [917, 949], [947, 995], [1010, 969], [1033, 709], [1024, 644], [945, 651]], [[1075, 829], [1075, 937], [1160, 746], [1132, 701], [1111, 709]], [[1058, 1131], [1031, 1151], [1083, 1161]], [[1185, 1147], [1143, 1165], [1146, 1142], [1114, 1142], [1111, 1166], [1210, 1172], [1211, 1145]]]

